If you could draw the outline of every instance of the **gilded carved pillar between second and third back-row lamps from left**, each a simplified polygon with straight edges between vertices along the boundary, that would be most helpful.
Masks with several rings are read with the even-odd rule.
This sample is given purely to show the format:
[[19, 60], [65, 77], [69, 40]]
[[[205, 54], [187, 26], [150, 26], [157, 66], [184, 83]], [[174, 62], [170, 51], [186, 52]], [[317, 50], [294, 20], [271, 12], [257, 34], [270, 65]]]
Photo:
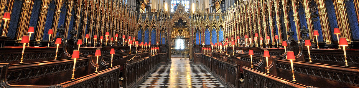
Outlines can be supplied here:
[[[46, 22], [46, 15], [47, 15], [47, 7], [48, 4], [50, 4], [50, 1], [48, 0], [43, 0], [42, 4], [41, 4], [41, 13], [39, 15], [39, 20], [38, 20], [38, 26], [37, 26], [37, 30], [36, 30], [36, 36], [34, 39], [36, 39], [36, 43], [40, 43], [42, 40], [42, 36], [43, 36], [43, 31], [45, 30], [45, 22]], [[47, 33], [46, 33], [47, 34]]]

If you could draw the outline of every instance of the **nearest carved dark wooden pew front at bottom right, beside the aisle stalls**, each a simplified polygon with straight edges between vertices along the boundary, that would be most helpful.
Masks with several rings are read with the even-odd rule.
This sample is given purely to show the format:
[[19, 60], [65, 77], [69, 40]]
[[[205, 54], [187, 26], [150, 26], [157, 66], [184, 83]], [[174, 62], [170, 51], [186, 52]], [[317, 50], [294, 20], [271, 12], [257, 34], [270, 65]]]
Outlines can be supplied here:
[[275, 77], [248, 67], [242, 68], [244, 70], [244, 88], [315, 88]]

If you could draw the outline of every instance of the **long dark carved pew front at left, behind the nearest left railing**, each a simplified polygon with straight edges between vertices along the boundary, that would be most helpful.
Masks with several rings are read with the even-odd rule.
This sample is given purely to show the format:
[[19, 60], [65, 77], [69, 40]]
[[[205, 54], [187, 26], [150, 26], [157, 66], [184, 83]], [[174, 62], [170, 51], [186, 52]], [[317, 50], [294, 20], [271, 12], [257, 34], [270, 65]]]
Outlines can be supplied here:
[[[90, 58], [82, 57], [76, 60], [75, 76], [81, 77], [93, 73]], [[68, 81], [73, 70], [74, 59], [45, 61], [36, 63], [10, 65], [6, 81], [13, 85], [45, 85]], [[94, 67], [94, 66], [93, 66]], [[61, 77], [68, 76], [68, 77]]]

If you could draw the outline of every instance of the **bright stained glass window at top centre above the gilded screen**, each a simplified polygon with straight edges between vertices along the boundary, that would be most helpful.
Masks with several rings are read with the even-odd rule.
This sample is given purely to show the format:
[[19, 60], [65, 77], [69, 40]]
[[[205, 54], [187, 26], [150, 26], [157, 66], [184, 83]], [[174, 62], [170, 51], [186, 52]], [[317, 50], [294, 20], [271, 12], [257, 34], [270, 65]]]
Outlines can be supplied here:
[[177, 9], [180, 2], [185, 7], [185, 11], [190, 12], [190, 0], [171, 0], [171, 12]]

